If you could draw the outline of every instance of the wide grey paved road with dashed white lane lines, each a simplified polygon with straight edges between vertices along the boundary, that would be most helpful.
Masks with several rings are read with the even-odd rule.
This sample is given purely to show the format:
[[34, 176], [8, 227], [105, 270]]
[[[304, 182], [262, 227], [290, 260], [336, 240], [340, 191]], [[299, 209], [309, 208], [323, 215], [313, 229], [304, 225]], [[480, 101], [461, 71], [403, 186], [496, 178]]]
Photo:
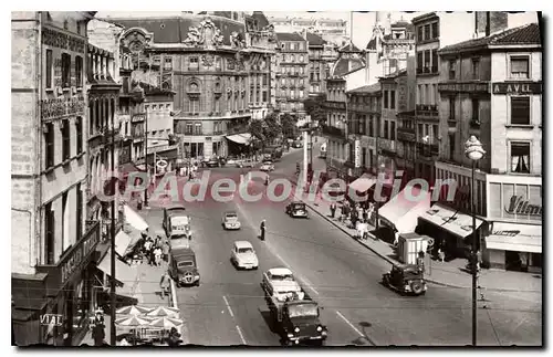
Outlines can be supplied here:
[[[272, 180], [293, 172], [301, 158], [301, 151], [285, 156], [276, 164]], [[211, 183], [223, 177], [238, 181], [240, 170], [220, 168], [210, 174]], [[250, 195], [264, 190], [262, 180], [249, 188]], [[279, 345], [279, 337], [268, 322], [259, 283], [262, 271], [283, 265], [295, 272], [324, 307], [321, 318], [328, 326], [327, 345], [468, 345], [471, 342], [470, 291], [430, 286], [426, 296], [401, 297], [378, 283], [382, 273], [389, 269], [388, 263], [315, 213], [309, 220], [291, 219], [284, 214], [285, 202], [246, 202], [234, 197], [220, 203], [210, 195], [202, 202], [186, 204], [192, 217], [192, 246], [201, 273], [199, 287], [178, 291], [192, 344]], [[242, 230], [222, 230], [221, 216], [227, 210], [238, 212]], [[154, 230], [160, 230], [160, 211], [152, 209], [148, 216]], [[263, 218], [268, 221], [265, 242], [257, 239]], [[259, 271], [238, 272], [232, 267], [229, 258], [234, 240], [249, 240], [253, 244], [260, 260]], [[487, 297], [491, 302], [480, 305], [493, 309], [479, 309], [480, 345], [542, 343], [541, 301], [536, 302], [535, 296], [502, 301], [501, 295], [493, 293]]]

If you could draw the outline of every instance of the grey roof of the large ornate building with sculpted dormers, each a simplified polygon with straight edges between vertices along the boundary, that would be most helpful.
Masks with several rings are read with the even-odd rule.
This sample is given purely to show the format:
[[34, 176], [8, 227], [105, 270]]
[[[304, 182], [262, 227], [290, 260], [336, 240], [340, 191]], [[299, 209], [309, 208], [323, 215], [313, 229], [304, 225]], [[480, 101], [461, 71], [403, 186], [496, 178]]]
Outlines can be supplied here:
[[231, 45], [230, 34], [238, 32], [244, 36], [243, 23], [216, 15], [196, 15], [185, 13], [173, 18], [109, 18], [108, 21], [126, 29], [142, 28], [154, 33], [155, 43], [181, 43], [188, 38], [188, 31], [192, 27], [199, 27], [206, 18], [211, 19], [213, 24], [221, 31], [225, 45]]

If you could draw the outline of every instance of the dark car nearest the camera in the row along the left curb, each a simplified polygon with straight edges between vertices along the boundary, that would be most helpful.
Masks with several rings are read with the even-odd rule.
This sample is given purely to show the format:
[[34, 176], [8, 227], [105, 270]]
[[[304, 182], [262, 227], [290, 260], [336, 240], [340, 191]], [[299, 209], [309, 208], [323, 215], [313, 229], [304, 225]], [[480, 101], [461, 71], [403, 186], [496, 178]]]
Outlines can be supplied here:
[[188, 246], [171, 248], [169, 256], [169, 275], [177, 286], [200, 285], [200, 273], [196, 264], [196, 253]]

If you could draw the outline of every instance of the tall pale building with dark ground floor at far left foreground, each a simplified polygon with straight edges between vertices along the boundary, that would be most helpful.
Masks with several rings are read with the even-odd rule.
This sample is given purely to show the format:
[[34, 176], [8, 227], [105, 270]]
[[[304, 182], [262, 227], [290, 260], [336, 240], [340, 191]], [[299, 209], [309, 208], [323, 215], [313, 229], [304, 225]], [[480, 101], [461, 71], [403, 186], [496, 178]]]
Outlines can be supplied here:
[[[72, 345], [93, 307], [100, 223], [85, 224], [93, 17], [12, 12], [11, 292], [20, 346]], [[46, 314], [63, 315], [62, 326], [45, 324]]]

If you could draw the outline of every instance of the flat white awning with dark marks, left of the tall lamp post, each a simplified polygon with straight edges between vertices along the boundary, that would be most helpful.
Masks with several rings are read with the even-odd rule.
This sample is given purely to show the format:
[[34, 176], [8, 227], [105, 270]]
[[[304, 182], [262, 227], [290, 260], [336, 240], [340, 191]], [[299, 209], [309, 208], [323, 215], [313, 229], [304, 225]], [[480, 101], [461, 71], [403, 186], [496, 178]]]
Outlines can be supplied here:
[[[472, 234], [472, 216], [461, 213], [440, 203], [434, 204], [420, 218], [460, 238], [467, 238]], [[477, 229], [482, 223], [483, 221], [477, 218]]]

